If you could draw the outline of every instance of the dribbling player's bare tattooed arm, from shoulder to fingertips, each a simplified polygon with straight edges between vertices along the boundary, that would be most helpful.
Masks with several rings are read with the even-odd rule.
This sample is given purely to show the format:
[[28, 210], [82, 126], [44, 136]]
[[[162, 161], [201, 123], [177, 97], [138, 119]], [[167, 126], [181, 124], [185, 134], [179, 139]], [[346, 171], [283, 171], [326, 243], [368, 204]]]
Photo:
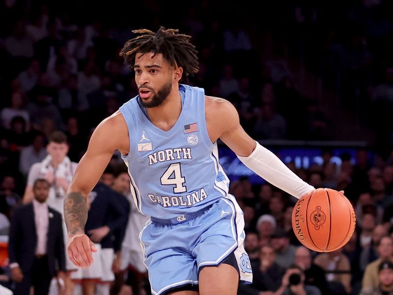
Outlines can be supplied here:
[[91, 251], [97, 251], [94, 243], [84, 235], [87, 196], [97, 184], [116, 149], [123, 154], [129, 151], [128, 129], [119, 111], [103, 120], [93, 132], [64, 199], [64, 219], [68, 231], [67, 254], [78, 267], [90, 266], [93, 262]]

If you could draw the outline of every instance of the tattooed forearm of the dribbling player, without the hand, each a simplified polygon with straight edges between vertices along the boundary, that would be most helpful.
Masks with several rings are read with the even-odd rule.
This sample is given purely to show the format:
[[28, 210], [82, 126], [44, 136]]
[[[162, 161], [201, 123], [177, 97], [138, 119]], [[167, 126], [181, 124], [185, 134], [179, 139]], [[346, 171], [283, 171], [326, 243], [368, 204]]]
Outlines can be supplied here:
[[79, 192], [67, 193], [64, 199], [64, 220], [68, 236], [84, 234], [87, 220], [87, 198]]

